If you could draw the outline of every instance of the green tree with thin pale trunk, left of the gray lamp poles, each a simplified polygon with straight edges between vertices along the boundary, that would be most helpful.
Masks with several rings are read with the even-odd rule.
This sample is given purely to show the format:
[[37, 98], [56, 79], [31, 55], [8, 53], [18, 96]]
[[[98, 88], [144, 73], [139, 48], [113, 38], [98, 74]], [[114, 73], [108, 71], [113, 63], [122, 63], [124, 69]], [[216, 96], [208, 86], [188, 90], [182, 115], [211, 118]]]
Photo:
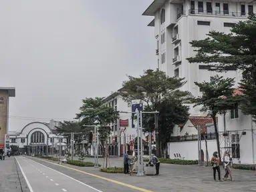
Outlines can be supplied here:
[[81, 120], [81, 125], [97, 125], [99, 139], [104, 145], [104, 167], [108, 167], [108, 139], [110, 138], [110, 123], [119, 118], [119, 112], [114, 107], [108, 107], [104, 103], [104, 97], [86, 98], [82, 100], [80, 113], [76, 118]]

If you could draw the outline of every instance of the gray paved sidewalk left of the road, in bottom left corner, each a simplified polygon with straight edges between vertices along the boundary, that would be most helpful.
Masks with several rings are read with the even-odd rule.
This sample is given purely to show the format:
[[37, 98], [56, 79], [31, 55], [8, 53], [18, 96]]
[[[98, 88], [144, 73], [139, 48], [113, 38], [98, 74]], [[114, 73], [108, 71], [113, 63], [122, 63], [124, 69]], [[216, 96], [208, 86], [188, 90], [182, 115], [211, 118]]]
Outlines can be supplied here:
[[29, 192], [15, 157], [0, 160], [0, 192]]

